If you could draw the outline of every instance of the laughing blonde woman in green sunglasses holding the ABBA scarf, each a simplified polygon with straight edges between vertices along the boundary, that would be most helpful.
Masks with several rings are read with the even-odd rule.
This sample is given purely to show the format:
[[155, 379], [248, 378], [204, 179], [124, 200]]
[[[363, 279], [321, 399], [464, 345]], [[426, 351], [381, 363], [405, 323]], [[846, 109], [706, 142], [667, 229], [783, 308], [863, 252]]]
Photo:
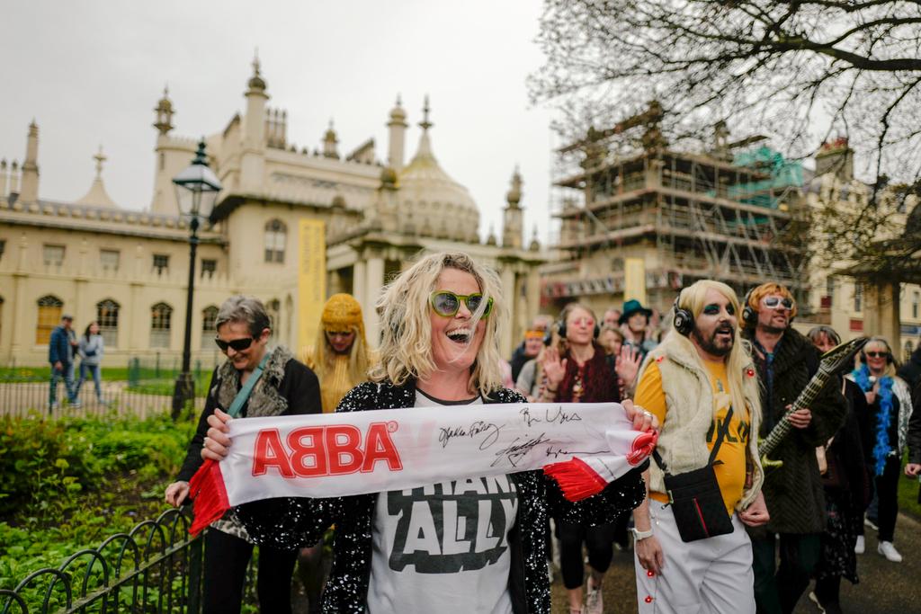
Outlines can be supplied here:
[[[371, 380], [337, 411], [462, 412], [483, 403], [522, 402], [501, 388], [498, 331], [507, 306], [495, 272], [460, 252], [432, 254], [386, 286], [378, 301], [382, 338]], [[625, 408], [635, 427], [651, 421]], [[206, 458], [227, 453], [225, 416], [209, 419]], [[549, 614], [546, 567], [548, 483], [541, 471], [495, 479], [458, 476], [412, 491], [339, 499], [298, 499], [286, 515], [260, 521], [237, 508], [261, 543], [295, 546], [335, 522], [332, 572], [323, 611]], [[633, 471], [584, 504], [604, 522], [642, 499]], [[321, 517], [321, 520], [317, 520]]]

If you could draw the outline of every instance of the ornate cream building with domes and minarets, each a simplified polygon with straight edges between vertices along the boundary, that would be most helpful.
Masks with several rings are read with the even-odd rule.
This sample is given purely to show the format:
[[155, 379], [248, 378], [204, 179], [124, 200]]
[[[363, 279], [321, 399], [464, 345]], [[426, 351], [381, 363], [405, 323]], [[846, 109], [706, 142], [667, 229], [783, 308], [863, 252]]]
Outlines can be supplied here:
[[[205, 364], [218, 358], [217, 306], [239, 292], [262, 298], [275, 338], [293, 348], [313, 341], [326, 296], [351, 293], [363, 307], [368, 340], [376, 342], [374, 303], [385, 281], [421, 253], [441, 249], [466, 251], [499, 273], [513, 298], [512, 326], [501, 340], [510, 353], [538, 311], [542, 262], [539, 246], [522, 248], [517, 171], [501, 245], [495, 236], [481, 242], [476, 203], [433, 153], [427, 98], [418, 148], [404, 165], [408, 124], [399, 98], [387, 122], [384, 162], [373, 138], [340, 154], [332, 122], [318, 147], [293, 144], [286, 110], [267, 105], [258, 60], [246, 86], [244, 109], [204, 139], [223, 189], [199, 231], [192, 307], [198, 357]], [[154, 108], [155, 179], [146, 211], [112, 202], [101, 149], [85, 196], [41, 199], [34, 122], [21, 167], [0, 161], [0, 364], [44, 364], [62, 313], [73, 315], [77, 328], [99, 320], [107, 365], [181, 353], [189, 225], [172, 179], [191, 163], [197, 139], [173, 133], [175, 112], [164, 91]]]

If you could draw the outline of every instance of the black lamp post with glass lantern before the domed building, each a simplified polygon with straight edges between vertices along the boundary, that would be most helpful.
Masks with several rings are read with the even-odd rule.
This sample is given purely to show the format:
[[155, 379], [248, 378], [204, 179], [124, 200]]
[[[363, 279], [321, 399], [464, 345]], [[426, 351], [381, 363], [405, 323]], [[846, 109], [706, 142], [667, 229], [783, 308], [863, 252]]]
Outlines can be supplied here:
[[178, 418], [186, 401], [193, 399], [195, 387], [192, 382], [190, 364], [192, 363], [192, 294], [195, 291], [195, 250], [198, 248], [199, 218], [207, 219], [215, 207], [217, 192], [221, 182], [204, 156], [204, 139], [198, 143], [198, 151], [192, 166], [181, 171], [173, 178], [176, 187], [176, 200], [180, 214], [190, 218], [189, 228], [189, 290], [185, 299], [185, 337], [182, 340], [182, 372], [176, 377], [173, 390], [173, 420]]

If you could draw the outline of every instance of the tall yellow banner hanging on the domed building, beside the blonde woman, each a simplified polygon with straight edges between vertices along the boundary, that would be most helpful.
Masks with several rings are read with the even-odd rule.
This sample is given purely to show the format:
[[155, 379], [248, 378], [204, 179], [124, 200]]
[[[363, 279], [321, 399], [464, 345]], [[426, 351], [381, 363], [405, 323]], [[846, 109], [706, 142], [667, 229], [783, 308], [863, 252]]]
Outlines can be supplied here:
[[297, 237], [297, 346], [303, 352], [317, 341], [326, 302], [326, 225], [300, 220]]

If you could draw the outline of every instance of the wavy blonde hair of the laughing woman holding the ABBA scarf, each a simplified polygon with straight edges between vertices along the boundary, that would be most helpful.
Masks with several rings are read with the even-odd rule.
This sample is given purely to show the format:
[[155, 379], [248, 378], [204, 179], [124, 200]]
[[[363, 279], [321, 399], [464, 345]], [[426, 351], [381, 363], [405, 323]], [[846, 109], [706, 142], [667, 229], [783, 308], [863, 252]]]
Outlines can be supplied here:
[[445, 269], [468, 272], [480, 286], [484, 300], [473, 313], [475, 329], [490, 298], [493, 309], [485, 318], [483, 343], [476, 352], [469, 380], [472, 390], [488, 395], [502, 388], [498, 330], [507, 326], [508, 307], [502, 297], [498, 275], [461, 251], [442, 251], [421, 258], [384, 286], [378, 299], [381, 339], [379, 362], [369, 374], [372, 381], [402, 386], [409, 379], [425, 379], [437, 369], [432, 355], [429, 296], [437, 290]]

